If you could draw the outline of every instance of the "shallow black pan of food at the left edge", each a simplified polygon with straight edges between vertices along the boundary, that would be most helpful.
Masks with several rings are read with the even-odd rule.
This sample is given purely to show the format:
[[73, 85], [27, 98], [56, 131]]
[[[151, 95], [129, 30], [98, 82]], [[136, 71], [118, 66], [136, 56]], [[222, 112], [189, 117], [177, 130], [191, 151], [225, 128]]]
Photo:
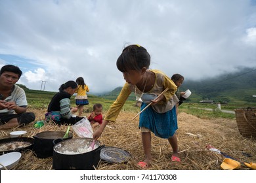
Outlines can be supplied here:
[[[5, 150], [3, 146], [6, 144], [14, 144], [16, 142], [30, 142], [29, 146], [19, 146], [18, 148], [15, 148], [14, 150]], [[1, 139], [0, 140], [0, 154], [5, 154], [9, 152], [22, 152], [25, 150], [32, 150], [34, 144], [34, 139], [29, 137], [15, 137], [15, 138], [8, 138], [8, 139]]]

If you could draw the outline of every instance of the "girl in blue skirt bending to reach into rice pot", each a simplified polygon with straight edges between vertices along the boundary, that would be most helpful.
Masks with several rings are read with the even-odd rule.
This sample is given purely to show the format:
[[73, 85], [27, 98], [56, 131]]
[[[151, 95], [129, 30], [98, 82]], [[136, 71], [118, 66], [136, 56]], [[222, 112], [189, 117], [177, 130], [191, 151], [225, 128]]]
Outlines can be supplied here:
[[[175, 112], [175, 105], [179, 101], [175, 95], [177, 86], [161, 71], [148, 70], [150, 54], [145, 48], [137, 44], [127, 46], [117, 59], [116, 65], [117, 69], [123, 73], [126, 83], [116, 101], [106, 113], [102, 125], [93, 134], [94, 139], [100, 137], [109, 121], [116, 121], [131, 92], [140, 97], [143, 93], [156, 93], [159, 95], [165, 88], [169, 88], [161, 97], [152, 100], [153, 105], [140, 114], [139, 127], [145, 158], [144, 161], [140, 161], [137, 165], [143, 169], [147, 169], [150, 166], [150, 161], [152, 161], [151, 131], [158, 137], [168, 139], [173, 148], [171, 159], [173, 161], [181, 161], [175, 135], [175, 131], [178, 129]], [[140, 109], [142, 110], [144, 107], [146, 107], [146, 103], [142, 103]]]

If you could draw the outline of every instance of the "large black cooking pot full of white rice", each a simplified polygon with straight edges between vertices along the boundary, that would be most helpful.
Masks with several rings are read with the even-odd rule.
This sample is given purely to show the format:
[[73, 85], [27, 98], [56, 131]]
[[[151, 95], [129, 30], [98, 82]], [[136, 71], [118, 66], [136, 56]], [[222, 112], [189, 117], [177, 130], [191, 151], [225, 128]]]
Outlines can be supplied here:
[[104, 145], [95, 141], [95, 148], [88, 151], [93, 142], [91, 138], [69, 139], [58, 142], [53, 147], [53, 169], [56, 170], [93, 170], [98, 167], [100, 150]]

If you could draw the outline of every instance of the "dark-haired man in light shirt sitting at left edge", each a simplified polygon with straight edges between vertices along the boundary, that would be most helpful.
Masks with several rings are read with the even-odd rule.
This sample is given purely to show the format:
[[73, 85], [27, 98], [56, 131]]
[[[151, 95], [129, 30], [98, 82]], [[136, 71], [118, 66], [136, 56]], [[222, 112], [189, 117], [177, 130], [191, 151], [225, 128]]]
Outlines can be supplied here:
[[0, 71], [0, 129], [11, 129], [35, 120], [33, 112], [26, 112], [27, 99], [16, 85], [22, 71], [14, 65], [5, 65]]

